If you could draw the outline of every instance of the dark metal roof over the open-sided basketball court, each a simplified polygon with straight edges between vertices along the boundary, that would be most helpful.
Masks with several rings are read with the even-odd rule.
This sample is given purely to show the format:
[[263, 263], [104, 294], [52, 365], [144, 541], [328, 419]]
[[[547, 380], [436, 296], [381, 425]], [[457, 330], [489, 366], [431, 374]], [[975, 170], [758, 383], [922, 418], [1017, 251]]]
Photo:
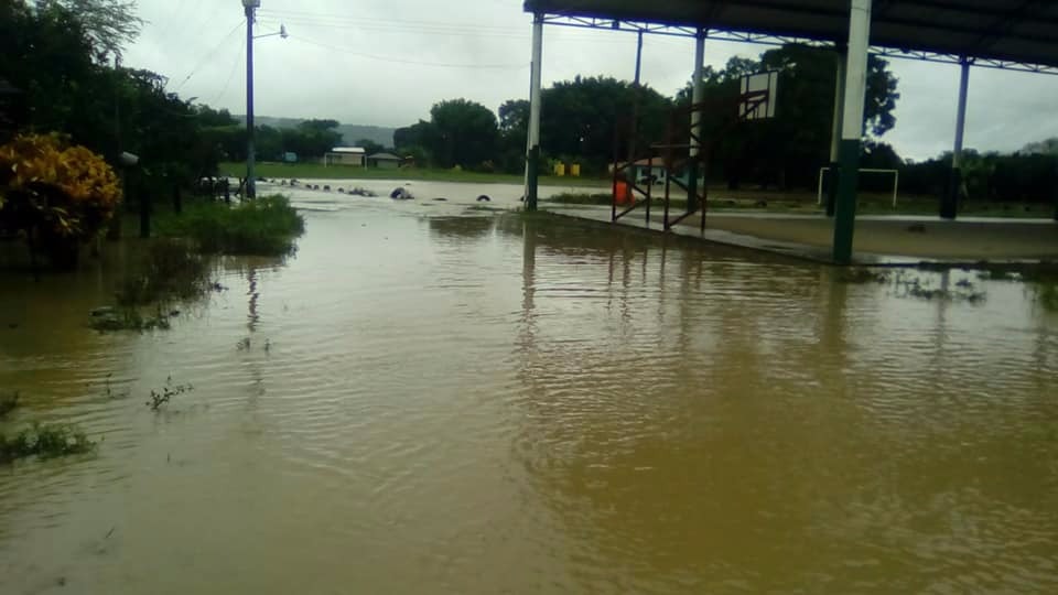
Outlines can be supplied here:
[[[525, 0], [525, 9], [834, 43], [844, 43], [849, 33], [849, 0]], [[874, 0], [871, 43], [1049, 72], [1058, 67], [1058, 2]]]

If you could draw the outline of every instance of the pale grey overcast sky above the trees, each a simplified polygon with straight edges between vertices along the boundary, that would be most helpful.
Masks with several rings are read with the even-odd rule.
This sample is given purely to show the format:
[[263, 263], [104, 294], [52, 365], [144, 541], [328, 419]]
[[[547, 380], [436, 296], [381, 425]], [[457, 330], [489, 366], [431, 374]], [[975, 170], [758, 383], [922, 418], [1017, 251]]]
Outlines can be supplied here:
[[[263, 0], [255, 44], [256, 112], [407, 126], [442, 99], [492, 109], [528, 98], [530, 15], [521, 0]], [[185, 98], [246, 111], [246, 30], [238, 0], [139, 0], [148, 21], [126, 64], [170, 78]], [[644, 82], [672, 95], [693, 71], [693, 40], [647, 36]], [[756, 57], [766, 46], [710, 41], [705, 61]], [[631, 79], [630, 33], [544, 29], [544, 86], [577, 74]], [[886, 134], [902, 156], [950, 150], [959, 67], [896, 60], [902, 98]], [[967, 147], [1012, 151], [1058, 137], [1058, 76], [974, 68]]]

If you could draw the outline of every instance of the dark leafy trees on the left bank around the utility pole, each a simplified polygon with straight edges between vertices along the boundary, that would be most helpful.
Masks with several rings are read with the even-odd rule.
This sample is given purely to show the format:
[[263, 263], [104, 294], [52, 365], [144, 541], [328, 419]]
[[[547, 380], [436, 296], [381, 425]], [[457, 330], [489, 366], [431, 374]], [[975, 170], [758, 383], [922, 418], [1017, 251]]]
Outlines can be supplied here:
[[[125, 0], [0, 2], [0, 143], [60, 131], [118, 163], [140, 158], [140, 178], [190, 184], [246, 159], [247, 131], [226, 109], [182, 99], [168, 79], [120, 66], [142, 22]], [[257, 127], [257, 158], [322, 156], [342, 143], [335, 120]]]

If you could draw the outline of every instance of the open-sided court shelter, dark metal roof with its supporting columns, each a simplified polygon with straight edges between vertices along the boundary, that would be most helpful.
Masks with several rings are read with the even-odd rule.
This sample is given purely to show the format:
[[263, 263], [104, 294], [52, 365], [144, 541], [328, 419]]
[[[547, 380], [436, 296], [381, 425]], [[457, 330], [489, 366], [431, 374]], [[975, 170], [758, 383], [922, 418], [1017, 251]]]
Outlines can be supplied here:
[[[705, 40], [771, 45], [807, 43], [834, 48], [838, 85], [831, 145], [835, 195], [832, 259], [852, 259], [868, 53], [958, 64], [961, 76], [952, 139], [951, 181], [939, 214], [954, 219], [972, 67], [1058, 75], [1058, 2], [1043, 0], [526, 0], [533, 13], [527, 208], [537, 208], [537, 162], [544, 25], [574, 26], [697, 40], [693, 104], [703, 100]], [[640, 43], [641, 47], [641, 43]], [[639, 64], [636, 64], [637, 83]], [[781, 109], [781, 106], [779, 107]], [[700, 147], [701, 127], [690, 112], [690, 152]], [[699, 208], [688, 188], [688, 212]], [[704, 212], [703, 212], [704, 217]]]

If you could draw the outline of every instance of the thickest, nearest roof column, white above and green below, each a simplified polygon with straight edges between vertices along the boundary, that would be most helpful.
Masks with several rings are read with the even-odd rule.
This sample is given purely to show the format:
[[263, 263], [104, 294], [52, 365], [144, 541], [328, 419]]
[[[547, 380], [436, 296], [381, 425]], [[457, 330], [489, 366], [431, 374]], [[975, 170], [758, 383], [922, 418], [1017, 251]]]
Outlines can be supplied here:
[[871, 0], [851, 0], [849, 56], [845, 61], [845, 112], [838, 151], [838, 204], [834, 217], [834, 262], [852, 261], [852, 236], [856, 225], [856, 186], [860, 182], [860, 144], [867, 91], [867, 47], [871, 41]]

